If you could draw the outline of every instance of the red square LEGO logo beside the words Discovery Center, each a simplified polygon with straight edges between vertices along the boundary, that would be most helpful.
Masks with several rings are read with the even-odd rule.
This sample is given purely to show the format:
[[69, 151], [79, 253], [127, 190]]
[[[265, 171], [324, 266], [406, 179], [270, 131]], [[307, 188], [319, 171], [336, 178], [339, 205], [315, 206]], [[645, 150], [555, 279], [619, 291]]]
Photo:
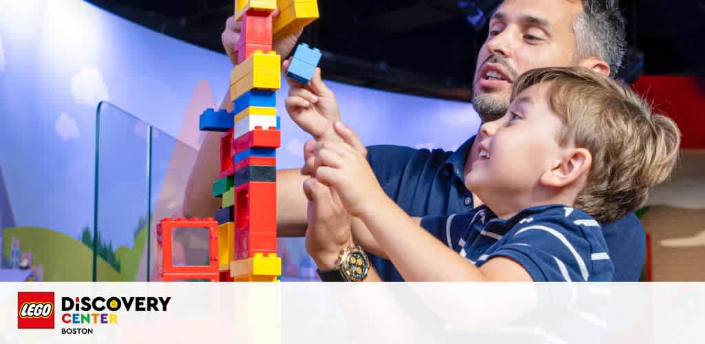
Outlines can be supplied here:
[[54, 292], [18, 292], [17, 328], [54, 328]]

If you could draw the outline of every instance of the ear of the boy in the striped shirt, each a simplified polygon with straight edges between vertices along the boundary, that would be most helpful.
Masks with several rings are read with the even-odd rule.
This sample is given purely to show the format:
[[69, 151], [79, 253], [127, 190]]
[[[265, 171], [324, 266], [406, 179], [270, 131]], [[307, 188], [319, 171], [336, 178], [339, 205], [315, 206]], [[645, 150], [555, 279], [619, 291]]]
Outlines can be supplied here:
[[560, 161], [551, 166], [550, 171], [541, 175], [541, 184], [553, 188], [563, 188], [590, 171], [592, 154], [584, 148], [568, 149]]

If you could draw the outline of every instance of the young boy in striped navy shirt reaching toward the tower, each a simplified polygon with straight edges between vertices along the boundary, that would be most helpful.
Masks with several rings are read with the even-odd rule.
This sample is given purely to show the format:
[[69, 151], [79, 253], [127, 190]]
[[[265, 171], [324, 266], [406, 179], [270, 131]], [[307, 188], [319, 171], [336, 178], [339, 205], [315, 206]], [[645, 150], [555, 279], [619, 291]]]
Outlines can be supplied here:
[[617, 82], [585, 68], [530, 70], [477, 137], [465, 184], [484, 205], [424, 218], [424, 229], [386, 196], [357, 136], [334, 128], [344, 142], [317, 144], [313, 183], [364, 222], [405, 281], [611, 281], [599, 223], [642, 206], [680, 145], [675, 123]]

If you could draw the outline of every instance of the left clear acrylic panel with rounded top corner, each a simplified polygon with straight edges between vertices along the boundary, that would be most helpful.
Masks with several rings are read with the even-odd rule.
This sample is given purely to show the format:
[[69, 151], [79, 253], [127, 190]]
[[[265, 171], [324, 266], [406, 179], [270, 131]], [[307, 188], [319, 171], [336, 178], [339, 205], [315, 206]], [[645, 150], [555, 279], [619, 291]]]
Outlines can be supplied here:
[[96, 132], [94, 281], [147, 281], [149, 125], [102, 102]]

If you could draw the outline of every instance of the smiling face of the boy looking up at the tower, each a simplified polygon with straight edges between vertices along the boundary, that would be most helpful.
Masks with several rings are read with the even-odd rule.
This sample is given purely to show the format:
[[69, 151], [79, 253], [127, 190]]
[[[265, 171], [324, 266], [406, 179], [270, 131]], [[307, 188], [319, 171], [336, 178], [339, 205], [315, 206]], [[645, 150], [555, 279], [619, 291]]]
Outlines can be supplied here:
[[558, 135], [563, 123], [551, 109], [549, 83], [521, 92], [505, 116], [480, 128], [479, 156], [465, 176], [465, 185], [491, 206], [492, 199], [530, 202], [541, 186], [541, 175], [560, 161]]

